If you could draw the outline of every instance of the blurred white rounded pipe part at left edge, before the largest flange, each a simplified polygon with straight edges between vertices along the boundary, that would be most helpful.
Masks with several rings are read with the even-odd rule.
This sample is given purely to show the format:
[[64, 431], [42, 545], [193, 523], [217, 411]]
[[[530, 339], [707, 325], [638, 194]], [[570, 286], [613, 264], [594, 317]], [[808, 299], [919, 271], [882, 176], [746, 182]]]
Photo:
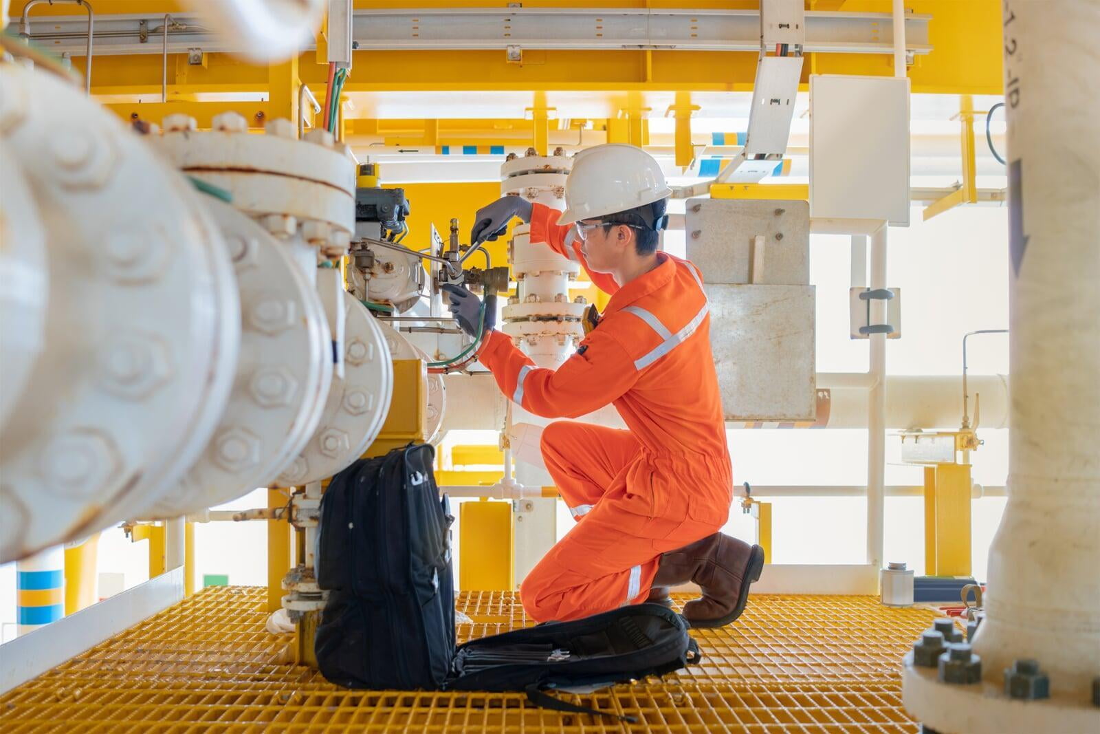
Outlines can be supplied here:
[[34, 197], [23, 178], [22, 166], [0, 139], [0, 426], [31, 376], [35, 360], [45, 348], [46, 234], [38, 220]]

